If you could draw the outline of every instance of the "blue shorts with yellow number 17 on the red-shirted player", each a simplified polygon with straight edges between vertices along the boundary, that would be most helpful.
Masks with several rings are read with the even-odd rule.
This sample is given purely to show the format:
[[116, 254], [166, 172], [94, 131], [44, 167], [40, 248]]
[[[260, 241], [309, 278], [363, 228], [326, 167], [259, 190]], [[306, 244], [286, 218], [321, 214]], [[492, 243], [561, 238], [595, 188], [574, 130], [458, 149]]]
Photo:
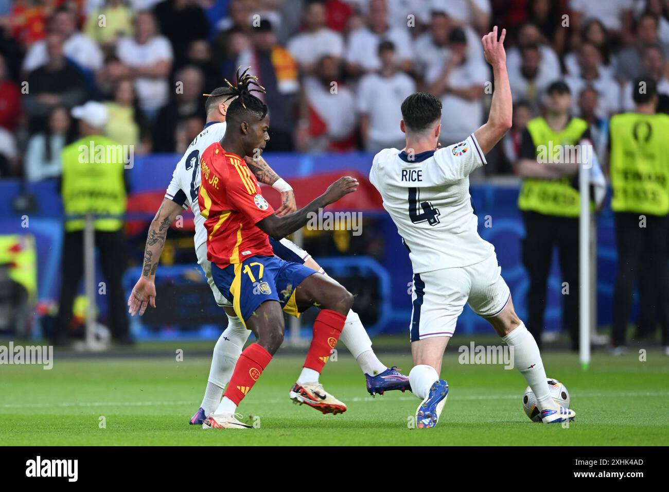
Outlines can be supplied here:
[[244, 321], [265, 301], [278, 301], [286, 313], [299, 317], [295, 289], [314, 273], [316, 270], [276, 256], [252, 256], [225, 268], [211, 264], [213, 281]]

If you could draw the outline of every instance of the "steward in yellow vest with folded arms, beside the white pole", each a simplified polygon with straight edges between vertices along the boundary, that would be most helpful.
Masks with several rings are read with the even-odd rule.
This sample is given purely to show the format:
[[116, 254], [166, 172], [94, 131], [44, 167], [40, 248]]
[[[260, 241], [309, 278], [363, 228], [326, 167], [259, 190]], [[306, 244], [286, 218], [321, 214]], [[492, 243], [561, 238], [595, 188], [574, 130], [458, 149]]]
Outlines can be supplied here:
[[518, 208], [522, 212], [525, 238], [522, 262], [530, 285], [527, 295], [529, 330], [541, 346], [546, 292], [553, 248], [557, 246], [564, 295], [563, 329], [571, 336], [571, 348], [579, 347], [579, 163], [589, 140], [587, 122], [571, 116], [571, 92], [565, 82], [553, 82], [547, 90], [545, 116], [530, 120], [522, 135], [514, 170], [522, 177]]

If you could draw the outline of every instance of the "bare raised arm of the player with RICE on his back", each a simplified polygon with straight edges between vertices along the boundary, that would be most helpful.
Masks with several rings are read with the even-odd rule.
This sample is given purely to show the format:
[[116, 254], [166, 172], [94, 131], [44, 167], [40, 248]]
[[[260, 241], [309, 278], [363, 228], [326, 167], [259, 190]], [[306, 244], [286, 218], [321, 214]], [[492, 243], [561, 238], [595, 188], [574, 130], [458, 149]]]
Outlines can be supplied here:
[[484, 154], [490, 152], [492, 147], [504, 137], [511, 128], [512, 105], [511, 88], [506, 73], [506, 52], [504, 52], [504, 37], [506, 29], [502, 29], [502, 35], [497, 39], [497, 26], [492, 32], [482, 37], [483, 50], [486, 61], [492, 65], [494, 76], [494, 92], [492, 93], [492, 104], [488, 121], [482, 125], [474, 136]]

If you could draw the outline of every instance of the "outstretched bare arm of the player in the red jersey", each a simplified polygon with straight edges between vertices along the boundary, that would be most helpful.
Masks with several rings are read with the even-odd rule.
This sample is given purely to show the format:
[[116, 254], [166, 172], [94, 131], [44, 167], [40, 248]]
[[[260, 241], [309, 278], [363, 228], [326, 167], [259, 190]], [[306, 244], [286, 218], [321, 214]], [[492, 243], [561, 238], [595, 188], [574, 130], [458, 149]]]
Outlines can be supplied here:
[[256, 226], [276, 240], [285, 238], [288, 234], [292, 234], [296, 230], [306, 226], [311, 214], [317, 214], [319, 209], [328, 206], [330, 203], [334, 203], [344, 195], [353, 193], [357, 189], [358, 184], [358, 180], [354, 177], [341, 177], [328, 186], [325, 193], [314, 199], [306, 207], [300, 208], [297, 212], [283, 217], [272, 214], [258, 222]]

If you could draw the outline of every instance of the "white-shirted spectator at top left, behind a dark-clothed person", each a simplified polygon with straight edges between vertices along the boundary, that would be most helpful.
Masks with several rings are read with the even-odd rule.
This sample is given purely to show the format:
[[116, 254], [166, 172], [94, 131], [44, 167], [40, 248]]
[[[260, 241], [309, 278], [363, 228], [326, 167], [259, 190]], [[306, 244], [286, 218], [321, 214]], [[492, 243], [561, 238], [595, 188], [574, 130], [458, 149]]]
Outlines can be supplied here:
[[[49, 19], [49, 29], [63, 37], [63, 52], [68, 59], [84, 70], [98, 70], [102, 67], [102, 51], [87, 35], [77, 29], [77, 19], [69, 9], [60, 7]], [[31, 46], [21, 67], [31, 72], [49, 62], [50, 55], [45, 39]]]

